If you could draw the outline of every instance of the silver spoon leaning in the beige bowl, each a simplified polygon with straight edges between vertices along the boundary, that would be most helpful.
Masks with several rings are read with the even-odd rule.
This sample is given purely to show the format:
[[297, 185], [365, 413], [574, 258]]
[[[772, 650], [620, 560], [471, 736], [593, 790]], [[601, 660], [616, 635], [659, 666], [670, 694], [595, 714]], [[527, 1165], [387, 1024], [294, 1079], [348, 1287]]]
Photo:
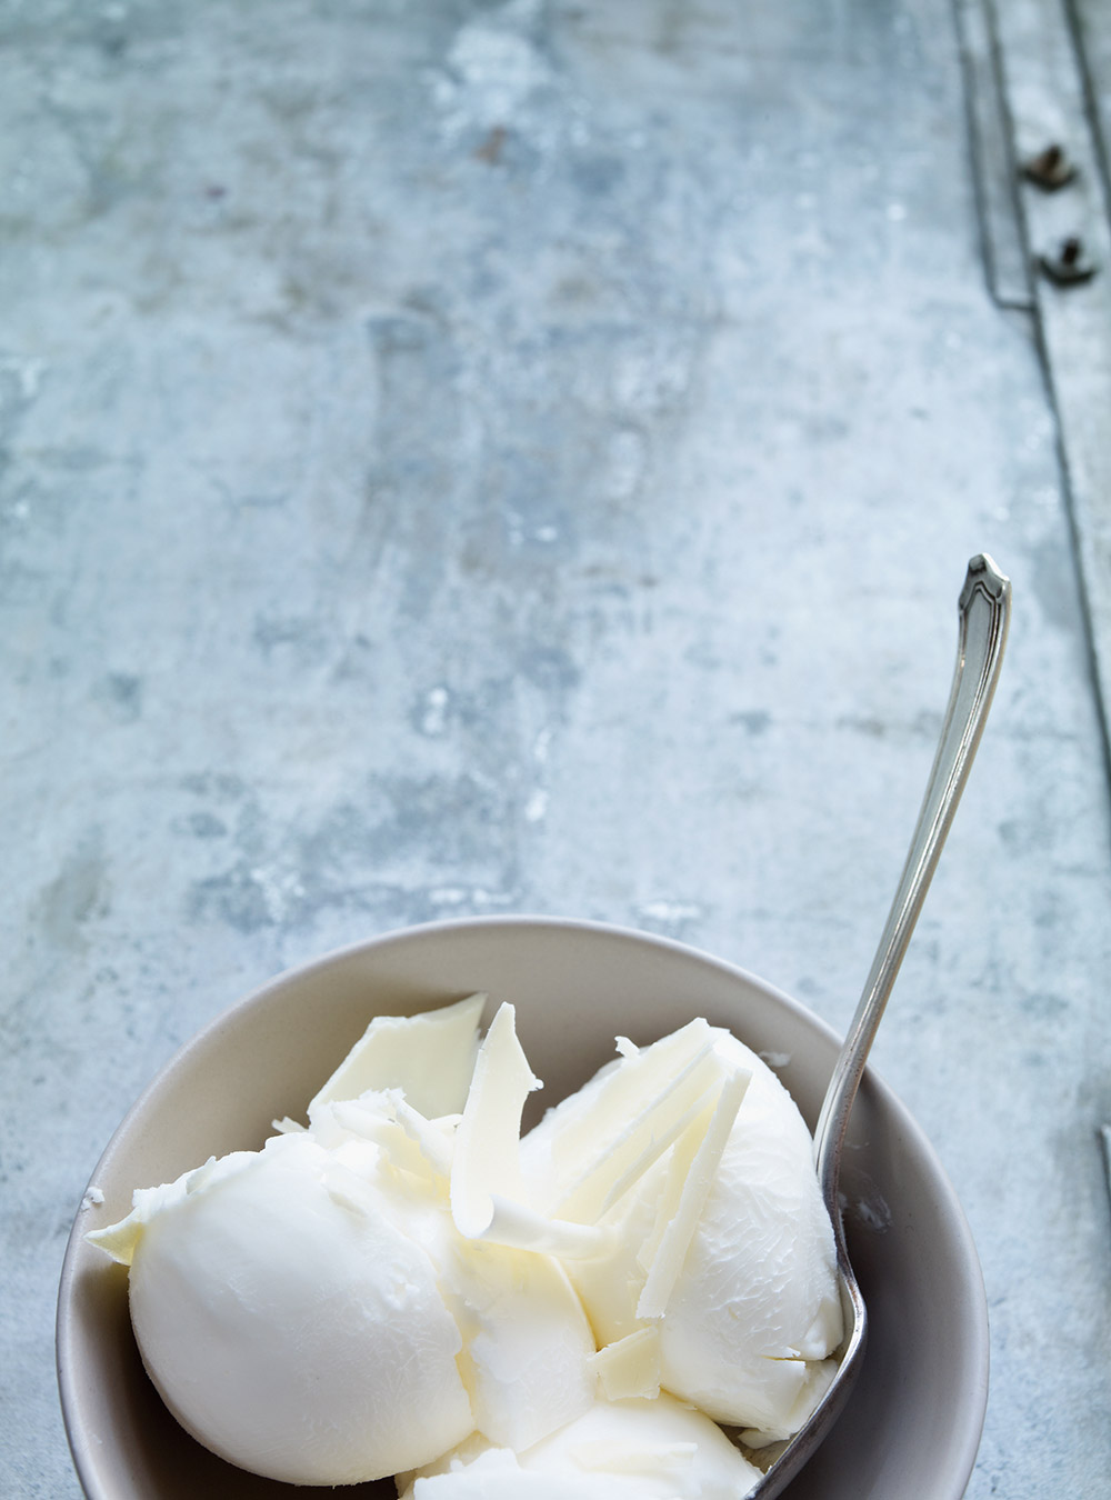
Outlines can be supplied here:
[[837, 1269], [844, 1308], [846, 1332], [837, 1356], [838, 1368], [832, 1384], [805, 1426], [781, 1449], [763, 1479], [748, 1491], [747, 1500], [772, 1500], [772, 1496], [778, 1496], [784, 1490], [825, 1442], [831, 1426], [841, 1414], [864, 1354], [868, 1317], [849, 1262], [837, 1197], [841, 1150], [868, 1050], [937, 868], [942, 846], [969, 778], [969, 770], [996, 692], [1011, 620], [1011, 580], [999, 572], [987, 554], [979, 554], [969, 562], [958, 609], [957, 670], [934, 766], [922, 800], [922, 812], [918, 814], [910, 852], [895, 898], [891, 903], [888, 922], [876, 950], [861, 1004], [829, 1080], [814, 1131], [814, 1160], [822, 1197], [834, 1224]]

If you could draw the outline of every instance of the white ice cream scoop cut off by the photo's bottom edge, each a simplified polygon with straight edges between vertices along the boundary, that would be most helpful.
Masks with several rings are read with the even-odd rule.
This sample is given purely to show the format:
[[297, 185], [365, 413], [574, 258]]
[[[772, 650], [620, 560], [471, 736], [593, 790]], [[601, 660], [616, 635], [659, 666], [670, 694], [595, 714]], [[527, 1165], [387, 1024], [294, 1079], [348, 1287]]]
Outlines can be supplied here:
[[397, 1488], [402, 1500], [739, 1500], [759, 1478], [721, 1428], [661, 1395], [595, 1401], [523, 1454], [472, 1438]]

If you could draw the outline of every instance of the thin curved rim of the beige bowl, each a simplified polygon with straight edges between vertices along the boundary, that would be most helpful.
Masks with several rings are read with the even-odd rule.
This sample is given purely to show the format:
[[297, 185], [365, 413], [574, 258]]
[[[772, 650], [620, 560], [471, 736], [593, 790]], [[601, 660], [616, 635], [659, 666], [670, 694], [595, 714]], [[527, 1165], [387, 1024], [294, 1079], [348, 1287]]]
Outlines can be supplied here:
[[[327, 969], [336, 963], [349, 960], [361, 952], [370, 950], [384, 950], [393, 945], [408, 944], [412, 940], [436, 938], [439, 934], [450, 936], [463, 930], [498, 930], [498, 928], [538, 928], [541, 932], [574, 932], [574, 933], [597, 933], [609, 939], [618, 939], [624, 942], [633, 942], [637, 946], [657, 946], [666, 950], [672, 954], [682, 956], [685, 958], [697, 960], [702, 964], [708, 964], [727, 976], [738, 978], [742, 982], [753, 986], [754, 988], [763, 992], [766, 996], [772, 998], [778, 1004], [784, 1005], [789, 1011], [804, 1022], [811, 1030], [825, 1036], [825, 1040], [840, 1048], [841, 1036], [837, 1030], [825, 1022], [820, 1016], [816, 1016], [808, 1006], [796, 1000], [786, 990], [762, 978], [750, 969], [742, 968], [738, 963], [732, 963], [727, 958], [720, 958], [702, 948], [696, 948], [690, 944], [684, 944], [675, 938], [667, 938], [660, 933], [643, 932], [636, 927], [625, 927], [621, 924], [597, 921], [592, 918], [574, 918], [574, 916], [559, 916], [559, 915], [529, 915], [529, 914], [504, 914], [504, 915], [480, 915], [480, 916], [454, 916], [439, 921], [417, 922], [405, 927], [393, 927], [385, 932], [376, 933], [370, 938], [355, 939], [349, 944], [343, 944], [337, 948], [331, 948], [324, 954], [318, 954], [313, 958], [307, 958], [301, 963], [295, 963], [286, 969], [279, 970], [271, 975], [262, 984], [253, 987], [246, 994], [241, 994], [237, 1000], [232, 1000], [208, 1022], [199, 1026], [174, 1053], [157, 1068], [154, 1076], [145, 1084], [145, 1088], [135, 1096], [132, 1104], [124, 1112], [123, 1118], [112, 1131], [108, 1143], [100, 1152], [88, 1185], [85, 1186], [85, 1194], [94, 1186], [97, 1178], [102, 1174], [102, 1167], [111, 1161], [115, 1155], [118, 1143], [130, 1134], [132, 1120], [139, 1116], [150, 1100], [162, 1089], [163, 1082], [175, 1072], [186, 1059], [201, 1050], [208, 1047], [222, 1029], [234, 1024], [246, 1011], [261, 1006], [270, 998], [271, 993], [286, 987], [288, 984], [301, 984], [310, 980], [312, 975], [321, 969]], [[984, 1284], [984, 1270], [981, 1266], [979, 1254], [976, 1251], [976, 1244], [972, 1234], [972, 1227], [969, 1224], [964, 1208], [957, 1196], [957, 1191], [949, 1180], [949, 1174], [942, 1164], [937, 1150], [930, 1142], [928, 1136], [903, 1104], [898, 1095], [891, 1089], [889, 1084], [883, 1082], [883, 1077], [868, 1064], [865, 1068], [865, 1078], [868, 1088], [874, 1090], [879, 1096], [885, 1112], [891, 1113], [898, 1122], [898, 1130], [903, 1137], [910, 1140], [912, 1152], [918, 1155], [930, 1174], [933, 1176], [939, 1192], [943, 1196], [946, 1208], [949, 1209], [949, 1228], [954, 1240], [958, 1245], [963, 1263], [967, 1266], [969, 1276], [967, 1284], [963, 1292], [967, 1300], [967, 1311], [970, 1317], [967, 1318], [969, 1328], [969, 1342], [964, 1348], [964, 1364], [970, 1371], [970, 1389], [966, 1392], [969, 1400], [961, 1402], [954, 1426], [948, 1432], [946, 1455], [952, 1467], [955, 1478], [963, 1478], [963, 1488], [960, 1494], [967, 1490], [969, 1479], [976, 1464], [976, 1455], [979, 1452], [981, 1438], [984, 1432], [984, 1422], [987, 1416], [988, 1402], [988, 1376], [990, 1376], [990, 1332], [988, 1332], [988, 1302], [987, 1290]], [[75, 1215], [75, 1222], [70, 1227], [69, 1238], [66, 1242], [66, 1251], [61, 1263], [61, 1275], [58, 1280], [58, 1294], [55, 1302], [55, 1320], [54, 1320], [54, 1354], [55, 1354], [55, 1376], [58, 1386], [58, 1398], [61, 1404], [61, 1416], [66, 1430], [66, 1438], [69, 1443], [69, 1450], [73, 1460], [73, 1467], [76, 1470], [78, 1480], [87, 1500], [112, 1500], [112, 1496], [105, 1491], [99, 1482], [99, 1478], [93, 1464], [93, 1438], [84, 1431], [78, 1420], [78, 1413], [81, 1407], [81, 1396], [76, 1386], [73, 1359], [72, 1359], [72, 1328], [70, 1328], [70, 1304], [73, 1300], [73, 1292], [76, 1286], [76, 1269], [78, 1269], [78, 1254], [84, 1240], [84, 1230], [81, 1228], [79, 1208]]]

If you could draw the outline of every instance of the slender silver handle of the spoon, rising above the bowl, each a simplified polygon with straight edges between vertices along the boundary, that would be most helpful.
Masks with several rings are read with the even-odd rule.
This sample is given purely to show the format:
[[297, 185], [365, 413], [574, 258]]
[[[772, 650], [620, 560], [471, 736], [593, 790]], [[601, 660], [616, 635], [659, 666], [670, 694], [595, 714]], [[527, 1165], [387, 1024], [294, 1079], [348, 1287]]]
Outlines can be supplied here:
[[834, 1218], [838, 1212], [841, 1148], [856, 1089], [969, 778], [1003, 660], [1011, 621], [1011, 580], [985, 552], [969, 562], [958, 608], [957, 670], [922, 812], [918, 814], [888, 922], [814, 1131], [822, 1197]]

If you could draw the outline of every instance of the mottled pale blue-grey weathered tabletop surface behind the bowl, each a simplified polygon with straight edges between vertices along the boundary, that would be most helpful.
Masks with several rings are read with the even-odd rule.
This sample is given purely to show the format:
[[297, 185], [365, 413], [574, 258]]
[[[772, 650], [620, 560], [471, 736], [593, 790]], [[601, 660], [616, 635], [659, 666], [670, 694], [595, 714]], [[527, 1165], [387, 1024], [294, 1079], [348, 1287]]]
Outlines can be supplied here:
[[844, 1024], [988, 549], [877, 1065], [988, 1284], [969, 1494], [1099, 1492], [1107, 780], [949, 8], [0, 0], [0, 1491], [76, 1492], [102, 1144], [285, 964], [573, 914]]

